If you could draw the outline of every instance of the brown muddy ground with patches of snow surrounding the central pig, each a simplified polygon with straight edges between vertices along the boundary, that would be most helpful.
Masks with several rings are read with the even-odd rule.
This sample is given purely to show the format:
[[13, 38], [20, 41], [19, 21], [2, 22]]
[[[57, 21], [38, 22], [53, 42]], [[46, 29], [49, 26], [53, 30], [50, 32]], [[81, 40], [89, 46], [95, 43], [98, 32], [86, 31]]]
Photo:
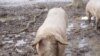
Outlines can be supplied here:
[[0, 56], [35, 56], [31, 42], [52, 7], [63, 7], [68, 14], [66, 56], [100, 56], [100, 34], [94, 30], [92, 23], [82, 20], [85, 10], [65, 5], [0, 6]]

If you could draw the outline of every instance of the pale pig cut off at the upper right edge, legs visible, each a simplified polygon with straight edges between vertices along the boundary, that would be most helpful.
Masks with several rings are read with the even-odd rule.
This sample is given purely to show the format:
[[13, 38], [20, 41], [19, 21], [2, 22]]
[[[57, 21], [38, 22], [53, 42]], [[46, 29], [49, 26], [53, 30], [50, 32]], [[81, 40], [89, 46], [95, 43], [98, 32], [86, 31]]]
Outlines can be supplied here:
[[91, 17], [94, 16], [94, 25], [97, 30], [100, 21], [100, 0], [89, 0], [86, 5], [86, 15], [88, 16], [88, 23], [91, 23]]

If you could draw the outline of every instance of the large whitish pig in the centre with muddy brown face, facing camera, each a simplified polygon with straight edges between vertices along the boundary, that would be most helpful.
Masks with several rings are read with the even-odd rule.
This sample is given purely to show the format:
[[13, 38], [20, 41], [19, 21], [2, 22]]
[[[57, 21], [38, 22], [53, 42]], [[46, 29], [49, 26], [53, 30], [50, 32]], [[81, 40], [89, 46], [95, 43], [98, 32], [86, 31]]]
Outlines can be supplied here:
[[43, 24], [39, 27], [32, 46], [38, 56], [64, 56], [67, 43], [67, 14], [63, 8], [49, 10]]

